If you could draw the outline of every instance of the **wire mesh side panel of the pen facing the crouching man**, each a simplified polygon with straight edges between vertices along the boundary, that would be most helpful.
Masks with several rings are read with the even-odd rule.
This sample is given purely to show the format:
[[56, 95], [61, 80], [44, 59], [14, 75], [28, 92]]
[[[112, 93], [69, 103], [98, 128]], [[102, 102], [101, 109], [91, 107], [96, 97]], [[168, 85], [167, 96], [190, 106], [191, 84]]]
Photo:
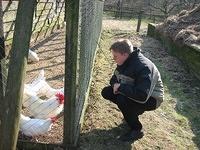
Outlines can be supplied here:
[[86, 93], [91, 78], [94, 56], [98, 44], [101, 26], [103, 2], [85, 0], [80, 3], [79, 28], [79, 65], [78, 65], [78, 93], [76, 107], [76, 122], [78, 128]]

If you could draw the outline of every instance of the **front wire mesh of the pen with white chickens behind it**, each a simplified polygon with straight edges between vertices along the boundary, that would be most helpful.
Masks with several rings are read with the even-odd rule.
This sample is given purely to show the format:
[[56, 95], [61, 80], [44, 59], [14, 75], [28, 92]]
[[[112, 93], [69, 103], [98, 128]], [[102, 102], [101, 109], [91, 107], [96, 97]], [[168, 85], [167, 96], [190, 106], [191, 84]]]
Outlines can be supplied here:
[[[11, 59], [8, 52], [6, 52], [6, 57], [4, 53], [11, 49], [18, 2], [1, 1], [0, 6], [0, 36], [2, 39], [0, 43], [0, 104], [3, 107], [2, 95], [5, 93], [8, 65]], [[61, 32], [58, 33], [56, 30], [57, 25], [63, 22], [64, 0], [43, 0], [37, 3], [32, 28], [32, 48], [27, 50], [27, 76], [19, 124], [20, 140], [36, 141], [37, 139], [38, 142], [44, 143], [62, 142], [63, 121], [56, 121], [56, 116], [63, 111], [64, 107], [64, 35], [58, 36]], [[55, 33], [49, 36], [48, 32]], [[50, 40], [52, 42], [48, 43]], [[56, 46], [57, 42], [59, 46]], [[52, 74], [53, 70], [56, 73]]]

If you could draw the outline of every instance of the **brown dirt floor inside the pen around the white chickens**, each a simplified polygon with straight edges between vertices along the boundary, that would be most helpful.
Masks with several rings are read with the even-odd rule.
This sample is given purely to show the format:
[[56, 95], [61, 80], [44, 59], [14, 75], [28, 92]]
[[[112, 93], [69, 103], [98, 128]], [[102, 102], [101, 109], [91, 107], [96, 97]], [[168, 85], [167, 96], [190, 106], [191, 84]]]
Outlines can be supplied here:
[[[31, 46], [40, 60], [37, 63], [29, 62], [26, 69], [25, 83], [32, 82], [37, 78], [41, 69], [44, 69], [46, 81], [53, 88], [64, 86], [64, 52], [65, 52], [65, 34], [58, 31], [50, 37], [42, 40], [40, 43]], [[29, 115], [27, 109], [23, 109], [25, 115]], [[60, 118], [53, 124], [52, 129], [44, 136], [28, 138], [19, 134], [21, 140], [30, 140], [41, 143], [62, 143], [63, 139], [63, 118]]]

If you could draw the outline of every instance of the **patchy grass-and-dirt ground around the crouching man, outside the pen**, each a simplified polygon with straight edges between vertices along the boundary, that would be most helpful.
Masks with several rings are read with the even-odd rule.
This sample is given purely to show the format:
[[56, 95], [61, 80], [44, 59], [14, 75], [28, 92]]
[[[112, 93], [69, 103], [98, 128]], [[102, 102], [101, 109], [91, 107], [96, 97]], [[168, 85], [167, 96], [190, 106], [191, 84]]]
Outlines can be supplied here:
[[[174, 88], [183, 88], [188, 97], [193, 97], [197, 100], [199, 84], [196, 85], [196, 83], [198, 81], [184, 69], [178, 59], [170, 56], [157, 40], [146, 37], [146, 31], [141, 34], [135, 34], [129, 21], [119, 22], [114, 20], [104, 20], [103, 22], [104, 31], [100, 43], [102, 47], [98, 50], [96, 56], [89, 107], [81, 131], [79, 149], [198, 149], [198, 144], [195, 143], [195, 140], [199, 136], [195, 135], [193, 131], [196, 126], [190, 125], [189, 117], [181, 118], [182, 116], [178, 116], [182, 113], [181, 110], [179, 112], [176, 109], [176, 107], [182, 109], [182, 107], [190, 106], [185, 104], [178, 105], [178, 99], [181, 97], [175, 97], [173, 89], [170, 89], [170, 85], [168, 85], [175, 83], [176, 86]], [[121, 24], [122, 28], [116, 26], [117, 24]], [[170, 83], [164, 83], [165, 92], [167, 93], [165, 102], [156, 111], [145, 112], [141, 115], [140, 120], [144, 125], [145, 136], [134, 144], [123, 143], [116, 139], [128, 127], [123, 121], [119, 109], [113, 103], [104, 100], [100, 95], [101, 89], [108, 85], [109, 79], [116, 67], [111, 59], [109, 46], [118, 38], [129, 38], [135, 46], [141, 47], [143, 54], [155, 62], [159, 69], [162, 69], [162, 78], [169, 78], [165, 72], [171, 74]], [[190, 87], [194, 88], [191, 89]], [[197, 96], [194, 96], [194, 93]], [[183, 127], [180, 122], [184, 122]]]

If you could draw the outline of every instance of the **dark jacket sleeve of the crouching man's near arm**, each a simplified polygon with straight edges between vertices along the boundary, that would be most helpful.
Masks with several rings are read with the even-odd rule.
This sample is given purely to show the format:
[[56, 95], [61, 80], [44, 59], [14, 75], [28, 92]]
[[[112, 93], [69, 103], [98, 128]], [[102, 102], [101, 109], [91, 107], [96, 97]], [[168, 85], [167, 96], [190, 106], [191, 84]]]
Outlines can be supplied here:
[[135, 84], [120, 84], [118, 91], [124, 96], [138, 102], [145, 103], [151, 86], [151, 72], [146, 67], [135, 78]]

